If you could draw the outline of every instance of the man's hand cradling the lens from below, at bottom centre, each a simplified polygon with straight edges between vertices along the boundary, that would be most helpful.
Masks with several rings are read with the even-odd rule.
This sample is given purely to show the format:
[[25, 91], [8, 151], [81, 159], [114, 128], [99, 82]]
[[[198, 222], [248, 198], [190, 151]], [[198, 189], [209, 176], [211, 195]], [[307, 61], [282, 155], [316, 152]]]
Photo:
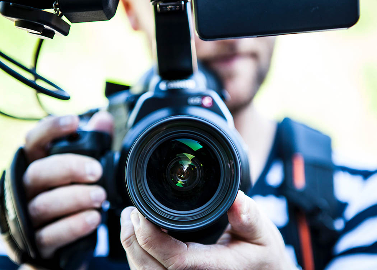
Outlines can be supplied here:
[[131, 269], [297, 269], [279, 230], [242, 191], [228, 219], [215, 245], [183, 243], [127, 207], [121, 215], [121, 241]]

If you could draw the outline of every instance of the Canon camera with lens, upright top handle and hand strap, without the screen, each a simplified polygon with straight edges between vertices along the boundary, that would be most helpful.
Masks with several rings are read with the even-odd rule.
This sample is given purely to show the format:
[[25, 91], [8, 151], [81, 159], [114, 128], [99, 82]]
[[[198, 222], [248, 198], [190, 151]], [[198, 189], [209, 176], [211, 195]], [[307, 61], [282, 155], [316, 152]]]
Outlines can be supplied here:
[[[110, 111], [116, 107], [130, 112], [121, 150], [111, 150], [108, 134], [84, 130], [56, 140], [49, 150], [100, 160], [104, 174], [99, 184], [110, 202], [106, 215], [114, 258], [118, 253], [125, 258], [119, 243], [124, 207], [135, 205], [146, 219], [182, 241], [209, 244], [227, 226], [226, 212], [238, 190], [247, 192], [251, 183], [246, 147], [221, 85], [203, 66], [198, 68], [190, 2], [151, 5], [158, 65], [135, 86], [143, 88], [143, 94], [107, 93]], [[77, 267], [83, 254], [93, 250], [95, 236], [61, 249], [51, 260], [41, 258], [22, 186], [27, 165], [20, 148], [2, 177], [0, 228], [9, 255], [17, 263]]]

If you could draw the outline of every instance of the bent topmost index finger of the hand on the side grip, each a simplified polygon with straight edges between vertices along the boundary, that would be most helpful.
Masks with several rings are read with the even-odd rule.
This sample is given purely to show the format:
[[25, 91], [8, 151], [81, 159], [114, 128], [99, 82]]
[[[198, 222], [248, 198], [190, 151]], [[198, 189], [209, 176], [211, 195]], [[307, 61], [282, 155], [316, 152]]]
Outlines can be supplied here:
[[78, 116], [48, 116], [26, 135], [25, 152], [29, 162], [47, 155], [48, 144], [77, 130]]

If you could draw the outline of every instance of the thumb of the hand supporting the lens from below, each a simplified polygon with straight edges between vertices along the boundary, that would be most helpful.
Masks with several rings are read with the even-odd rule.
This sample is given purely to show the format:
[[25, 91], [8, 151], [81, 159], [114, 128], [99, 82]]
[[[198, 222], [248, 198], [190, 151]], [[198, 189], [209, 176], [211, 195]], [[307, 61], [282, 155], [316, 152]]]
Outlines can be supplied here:
[[253, 244], [266, 244], [269, 225], [256, 202], [241, 190], [228, 210], [228, 220], [233, 236]]

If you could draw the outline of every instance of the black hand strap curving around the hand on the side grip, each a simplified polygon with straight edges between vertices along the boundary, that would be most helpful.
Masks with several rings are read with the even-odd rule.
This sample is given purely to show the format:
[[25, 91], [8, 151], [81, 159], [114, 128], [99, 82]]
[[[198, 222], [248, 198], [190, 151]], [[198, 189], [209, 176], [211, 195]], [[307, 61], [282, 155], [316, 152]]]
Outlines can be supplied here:
[[51, 259], [42, 258], [35, 242], [22, 180], [27, 167], [25, 151], [20, 147], [11, 167], [0, 178], [0, 237], [6, 252], [18, 265], [28, 263], [41, 269], [77, 269], [92, 256], [96, 232], [59, 249]]

